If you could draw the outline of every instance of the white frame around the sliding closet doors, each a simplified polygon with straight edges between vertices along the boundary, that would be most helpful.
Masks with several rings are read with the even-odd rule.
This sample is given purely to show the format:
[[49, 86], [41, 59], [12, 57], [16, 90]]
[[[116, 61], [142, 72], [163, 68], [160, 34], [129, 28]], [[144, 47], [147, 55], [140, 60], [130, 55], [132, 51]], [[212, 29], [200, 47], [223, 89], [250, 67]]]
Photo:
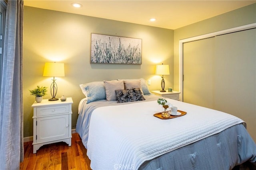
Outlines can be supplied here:
[[206, 38], [210, 38], [210, 37], [215, 37], [217, 35], [223, 35], [223, 34], [227, 34], [227, 33], [233, 33], [233, 32], [237, 32], [237, 31], [243, 31], [246, 29], [253, 29], [256, 28], [256, 23], [251, 23], [248, 25], [242, 25], [239, 27], [234, 27], [234, 28], [230, 28], [230, 29], [225, 29], [222, 31], [217, 31], [217, 32], [213, 32], [213, 33], [208, 33], [208, 34], [204, 34], [204, 35], [199, 35], [199, 36], [195, 36], [195, 37], [190, 37], [190, 38], [186, 38], [186, 39], [181, 39], [179, 40], [179, 89], [180, 89], [180, 101], [183, 102], [183, 80], [184, 80], [184, 75], [183, 75], [183, 43], [188, 43], [191, 41], [197, 41], [200, 39], [206, 39]]

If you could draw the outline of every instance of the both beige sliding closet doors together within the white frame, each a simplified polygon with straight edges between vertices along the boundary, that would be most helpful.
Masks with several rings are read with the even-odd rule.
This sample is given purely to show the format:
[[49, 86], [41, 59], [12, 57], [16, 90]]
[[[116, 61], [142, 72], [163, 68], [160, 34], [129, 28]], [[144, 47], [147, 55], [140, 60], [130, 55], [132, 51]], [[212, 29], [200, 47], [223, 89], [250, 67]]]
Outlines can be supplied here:
[[247, 123], [256, 141], [256, 29], [184, 43], [183, 101]]

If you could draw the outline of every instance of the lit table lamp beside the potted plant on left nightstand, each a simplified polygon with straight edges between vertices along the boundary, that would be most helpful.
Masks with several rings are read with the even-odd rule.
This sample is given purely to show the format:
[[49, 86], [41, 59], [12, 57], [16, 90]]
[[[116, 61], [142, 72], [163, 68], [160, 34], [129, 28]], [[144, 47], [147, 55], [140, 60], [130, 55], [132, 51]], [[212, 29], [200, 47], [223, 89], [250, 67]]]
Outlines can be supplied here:
[[44, 65], [44, 74], [45, 77], [53, 77], [53, 82], [50, 86], [50, 92], [52, 95], [52, 98], [49, 99], [49, 101], [59, 100], [56, 98], [57, 94], [57, 84], [55, 77], [64, 77], [64, 63], [45, 63]]

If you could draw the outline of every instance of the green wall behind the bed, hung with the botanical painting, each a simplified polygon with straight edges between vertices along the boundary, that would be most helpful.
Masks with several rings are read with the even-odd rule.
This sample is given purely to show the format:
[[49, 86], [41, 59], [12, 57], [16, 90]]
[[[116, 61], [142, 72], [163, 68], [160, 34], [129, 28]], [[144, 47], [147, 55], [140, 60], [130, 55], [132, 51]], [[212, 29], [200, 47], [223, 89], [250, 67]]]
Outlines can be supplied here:
[[[142, 64], [90, 64], [91, 33], [142, 39]], [[151, 80], [150, 90], [161, 88], [155, 75], [156, 64], [169, 64], [166, 87], [173, 87], [173, 35], [171, 29], [106, 20], [77, 14], [24, 7], [23, 99], [24, 137], [33, 135], [35, 101], [28, 90], [50, 88], [52, 78], [43, 77], [44, 63], [65, 63], [65, 77], [56, 78], [57, 97], [72, 97], [72, 129], [78, 117], [78, 104], [84, 98], [79, 84], [118, 78]], [[174, 89], [175, 90], [175, 89]], [[45, 99], [50, 98], [50, 92]]]

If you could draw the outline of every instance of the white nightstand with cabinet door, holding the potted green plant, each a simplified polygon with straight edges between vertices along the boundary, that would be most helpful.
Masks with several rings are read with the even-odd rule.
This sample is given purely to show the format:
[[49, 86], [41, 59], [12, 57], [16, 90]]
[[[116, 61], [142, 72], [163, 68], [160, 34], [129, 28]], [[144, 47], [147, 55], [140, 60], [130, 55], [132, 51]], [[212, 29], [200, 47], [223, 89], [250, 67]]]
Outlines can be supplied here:
[[40, 103], [34, 102], [33, 153], [50, 143], [63, 141], [71, 146], [72, 103], [72, 98], [67, 98], [65, 102], [48, 99]]

